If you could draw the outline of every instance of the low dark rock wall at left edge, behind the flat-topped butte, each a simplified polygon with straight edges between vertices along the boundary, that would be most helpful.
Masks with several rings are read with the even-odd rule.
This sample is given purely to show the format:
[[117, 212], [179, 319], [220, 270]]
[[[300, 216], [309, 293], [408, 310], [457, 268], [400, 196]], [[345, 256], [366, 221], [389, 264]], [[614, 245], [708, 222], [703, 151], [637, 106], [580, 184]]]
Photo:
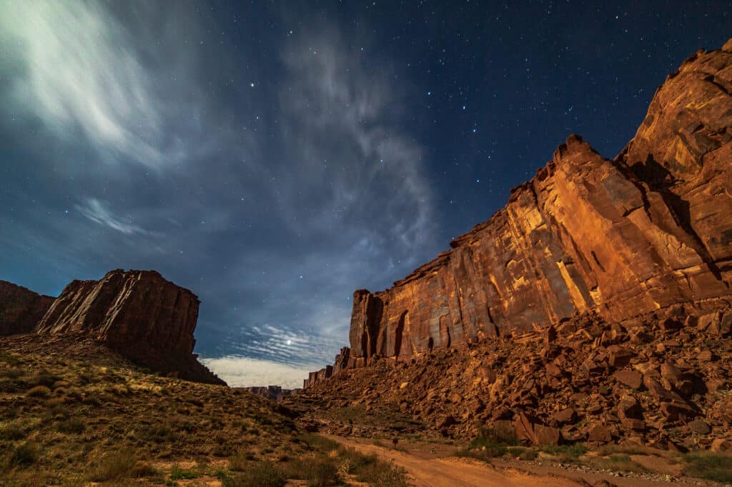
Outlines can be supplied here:
[[51, 303], [51, 296], [0, 281], [0, 336], [31, 333]]

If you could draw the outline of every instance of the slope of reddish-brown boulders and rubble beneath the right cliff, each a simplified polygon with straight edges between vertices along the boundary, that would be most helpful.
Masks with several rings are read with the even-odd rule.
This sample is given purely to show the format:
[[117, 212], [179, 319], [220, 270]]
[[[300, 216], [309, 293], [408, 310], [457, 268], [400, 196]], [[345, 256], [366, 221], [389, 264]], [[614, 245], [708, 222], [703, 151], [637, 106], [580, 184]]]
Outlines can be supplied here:
[[731, 323], [730, 312], [682, 308], [622, 324], [586, 316], [408, 362], [378, 360], [283, 404], [312, 430], [358, 437], [725, 455]]

